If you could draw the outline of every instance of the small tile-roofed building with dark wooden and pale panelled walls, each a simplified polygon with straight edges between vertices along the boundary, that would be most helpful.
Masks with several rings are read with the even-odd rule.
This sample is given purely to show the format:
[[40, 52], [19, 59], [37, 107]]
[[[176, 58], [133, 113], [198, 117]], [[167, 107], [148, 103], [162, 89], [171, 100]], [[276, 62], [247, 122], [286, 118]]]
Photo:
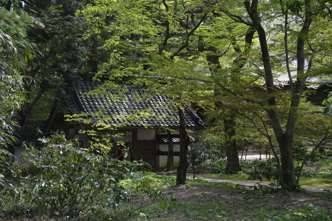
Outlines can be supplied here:
[[[142, 159], [154, 168], [166, 166], [168, 150], [172, 146], [172, 160], [176, 166], [179, 151], [176, 131], [180, 125], [174, 101], [165, 95], [150, 95], [145, 86], [133, 86], [125, 79], [118, 84], [125, 88], [121, 95], [116, 90], [98, 96], [89, 94], [102, 85], [94, 81], [83, 81], [75, 90], [67, 91], [53, 106], [46, 131], [63, 131], [67, 139], [79, 137], [82, 146], [87, 148], [91, 137], [80, 131], [100, 129], [102, 120], [107, 128], [102, 128], [101, 134], [124, 133], [123, 137], [113, 141], [121, 141], [124, 148], [131, 149], [131, 160]], [[66, 108], [60, 105], [63, 102]], [[82, 113], [91, 122], [66, 121], [66, 114]], [[190, 129], [205, 126], [190, 106], [185, 108], [185, 126]], [[166, 128], [173, 132], [167, 135]], [[118, 148], [113, 148], [114, 157], [120, 153]]]

